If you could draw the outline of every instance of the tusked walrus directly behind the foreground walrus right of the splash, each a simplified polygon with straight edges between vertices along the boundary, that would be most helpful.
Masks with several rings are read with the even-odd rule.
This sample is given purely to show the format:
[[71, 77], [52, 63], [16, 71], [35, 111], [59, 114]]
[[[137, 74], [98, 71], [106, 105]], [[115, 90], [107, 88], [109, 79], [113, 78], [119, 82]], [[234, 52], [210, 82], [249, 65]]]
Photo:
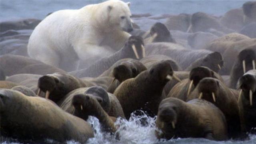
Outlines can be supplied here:
[[203, 78], [188, 96], [187, 101], [202, 98], [212, 102], [224, 113], [228, 124], [229, 138], [240, 138], [241, 122], [238, 108], [237, 90], [229, 89], [216, 78]]

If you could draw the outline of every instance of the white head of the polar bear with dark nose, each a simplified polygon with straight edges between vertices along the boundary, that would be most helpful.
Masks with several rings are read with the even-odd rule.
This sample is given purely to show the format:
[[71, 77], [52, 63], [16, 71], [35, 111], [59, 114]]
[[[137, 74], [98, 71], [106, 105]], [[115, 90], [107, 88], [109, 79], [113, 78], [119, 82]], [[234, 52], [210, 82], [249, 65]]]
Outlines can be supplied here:
[[131, 22], [131, 12], [130, 12], [130, 2], [125, 3], [120, 0], [110, 0], [108, 5], [108, 18], [111, 26], [115, 28], [120, 28], [126, 32], [131, 32], [132, 22]]

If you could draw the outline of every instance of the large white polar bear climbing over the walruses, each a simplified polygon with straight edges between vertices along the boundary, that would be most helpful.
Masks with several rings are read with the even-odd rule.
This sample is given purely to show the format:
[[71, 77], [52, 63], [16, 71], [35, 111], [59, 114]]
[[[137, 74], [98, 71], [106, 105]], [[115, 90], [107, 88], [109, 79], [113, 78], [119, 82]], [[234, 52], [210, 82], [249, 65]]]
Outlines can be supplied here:
[[[59, 10], [32, 32], [28, 55], [46, 64], [74, 70], [80, 59], [119, 50], [132, 28], [130, 2], [108, 0], [78, 10]], [[87, 61], [87, 62], [89, 62]]]

